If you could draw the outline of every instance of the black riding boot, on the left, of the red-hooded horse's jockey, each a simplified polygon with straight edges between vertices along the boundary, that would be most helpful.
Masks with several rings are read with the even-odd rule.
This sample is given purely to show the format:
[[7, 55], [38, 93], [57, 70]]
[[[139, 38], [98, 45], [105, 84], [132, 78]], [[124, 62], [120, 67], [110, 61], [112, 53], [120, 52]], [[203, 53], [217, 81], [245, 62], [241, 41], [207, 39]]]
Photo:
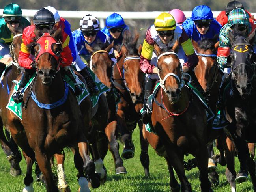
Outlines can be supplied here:
[[12, 98], [15, 103], [21, 103], [23, 101], [23, 93], [22, 89], [26, 86], [28, 83], [30, 77], [35, 72], [35, 69], [25, 69], [24, 73], [21, 76], [19, 87], [16, 91], [16, 93], [13, 94]]

